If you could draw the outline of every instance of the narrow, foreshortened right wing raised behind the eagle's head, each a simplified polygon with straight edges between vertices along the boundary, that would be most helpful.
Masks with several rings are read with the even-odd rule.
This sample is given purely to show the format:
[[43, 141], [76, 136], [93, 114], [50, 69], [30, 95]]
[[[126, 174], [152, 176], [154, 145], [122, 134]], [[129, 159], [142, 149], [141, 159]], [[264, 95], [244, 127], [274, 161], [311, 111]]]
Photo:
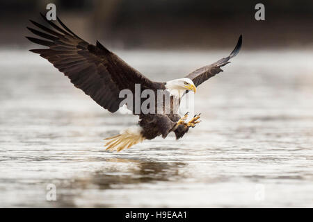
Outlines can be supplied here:
[[191, 74], [188, 74], [186, 78], [190, 78], [191, 80], [193, 80], [193, 83], [195, 83], [195, 87], [198, 87], [198, 85], [200, 85], [204, 81], [220, 73], [220, 71], [223, 71], [222, 69], [220, 69], [220, 67], [223, 67], [226, 64], [230, 63], [229, 60], [239, 53], [241, 49], [241, 44], [242, 44], [242, 35], [240, 35], [236, 47], [234, 48], [232, 53], [230, 53], [230, 56], [222, 58], [211, 65], [207, 65], [205, 67], [197, 69], [193, 71]]

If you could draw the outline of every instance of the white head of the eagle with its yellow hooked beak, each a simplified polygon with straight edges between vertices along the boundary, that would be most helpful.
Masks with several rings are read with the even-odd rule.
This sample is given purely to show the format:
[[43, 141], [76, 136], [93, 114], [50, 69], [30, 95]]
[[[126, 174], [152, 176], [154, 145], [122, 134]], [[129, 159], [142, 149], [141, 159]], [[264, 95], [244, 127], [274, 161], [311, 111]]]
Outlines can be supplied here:
[[194, 93], [196, 91], [195, 84], [190, 78], [177, 78], [175, 80], [170, 80], [166, 82], [166, 89], [168, 89], [171, 94], [179, 97], [182, 97], [186, 90], [191, 90]]

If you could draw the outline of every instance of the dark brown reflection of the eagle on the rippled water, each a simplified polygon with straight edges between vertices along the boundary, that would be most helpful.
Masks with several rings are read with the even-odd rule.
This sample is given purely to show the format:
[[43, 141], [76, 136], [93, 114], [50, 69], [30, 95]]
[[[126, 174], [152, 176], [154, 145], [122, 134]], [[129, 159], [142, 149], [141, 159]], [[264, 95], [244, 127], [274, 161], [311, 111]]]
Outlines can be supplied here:
[[[75, 207], [77, 199], [84, 198], [86, 190], [90, 191], [96, 189], [97, 191], [104, 191], [106, 189], [118, 189], [124, 185], [136, 185], [143, 183], [153, 183], [157, 181], [169, 181], [182, 178], [179, 175], [179, 167], [184, 167], [184, 163], [166, 163], [136, 160], [128, 158], [108, 158], [104, 160], [106, 165], [111, 167], [99, 168], [93, 172], [72, 178], [71, 180], [58, 180], [56, 187], [61, 190], [58, 194], [58, 207]], [[116, 165], [124, 165], [125, 171]], [[73, 192], [74, 190], [74, 192]], [[109, 203], [99, 204], [98, 201], [93, 201], [84, 198], [83, 205], [93, 207], [110, 207]]]

